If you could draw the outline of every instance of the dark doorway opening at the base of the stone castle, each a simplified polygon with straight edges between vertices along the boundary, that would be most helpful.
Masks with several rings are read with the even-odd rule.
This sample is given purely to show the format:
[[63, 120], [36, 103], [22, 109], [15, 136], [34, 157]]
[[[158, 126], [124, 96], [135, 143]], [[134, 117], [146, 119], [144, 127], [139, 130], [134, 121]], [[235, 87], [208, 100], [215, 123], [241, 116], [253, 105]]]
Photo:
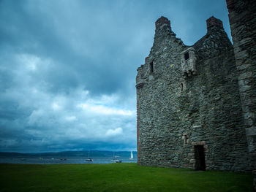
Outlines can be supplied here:
[[206, 170], [206, 158], [203, 145], [195, 145], [195, 169]]

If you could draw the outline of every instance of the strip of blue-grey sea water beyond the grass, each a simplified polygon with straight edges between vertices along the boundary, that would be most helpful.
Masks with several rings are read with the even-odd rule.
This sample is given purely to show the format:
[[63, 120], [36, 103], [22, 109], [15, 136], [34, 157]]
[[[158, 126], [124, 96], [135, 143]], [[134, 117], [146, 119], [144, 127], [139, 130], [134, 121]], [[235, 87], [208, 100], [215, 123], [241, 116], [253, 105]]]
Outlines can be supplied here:
[[[94, 158], [94, 161], [86, 161], [86, 157], [0, 157], [0, 164], [113, 164], [113, 158]], [[122, 163], [137, 163], [137, 158], [116, 158]]]

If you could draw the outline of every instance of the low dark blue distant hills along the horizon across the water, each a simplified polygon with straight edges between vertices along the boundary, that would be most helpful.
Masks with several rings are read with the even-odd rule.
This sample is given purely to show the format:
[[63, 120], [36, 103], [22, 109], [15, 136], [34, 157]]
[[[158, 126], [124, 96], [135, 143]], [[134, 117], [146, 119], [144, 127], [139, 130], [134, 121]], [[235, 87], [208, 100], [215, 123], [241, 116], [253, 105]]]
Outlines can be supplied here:
[[[137, 151], [133, 151], [133, 156], [137, 158]], [[121, 158], [129, 158], [130, 151], [108, 151], [108, 150], [82, 150], [82, 151], [61, 151], [58, 153], [9, 153], [0, 152], [0, 157], [90, 157], [94, 158], [110, 158], [116, 155]]]

